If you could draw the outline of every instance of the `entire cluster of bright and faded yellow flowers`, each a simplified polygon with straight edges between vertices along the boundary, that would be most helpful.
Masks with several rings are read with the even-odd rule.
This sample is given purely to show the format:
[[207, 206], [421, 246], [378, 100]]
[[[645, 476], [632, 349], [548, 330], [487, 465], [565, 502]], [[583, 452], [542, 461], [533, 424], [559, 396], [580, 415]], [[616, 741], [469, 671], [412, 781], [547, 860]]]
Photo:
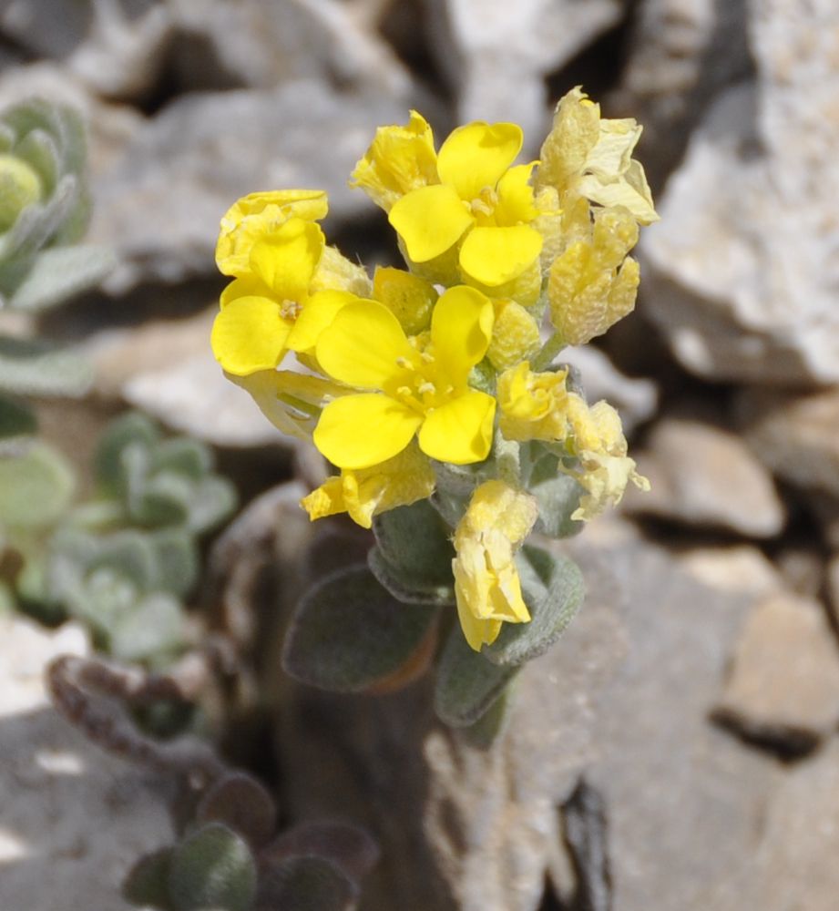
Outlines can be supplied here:
[[639, 135], [579, 88], [524, 164], [511, 123], [467, 124], [439, 150], [416, 112], [379, 128], [351, 182], [387, 213], [407, 269], [372, 280], [326, 243], [322, 191], [254, 193], [221, 222], [217, 261], [232, 281], [213, 351], [275, 425], [339, 469], [303, 499], [310, 517], [347, 512], [371, 527], [385, 510], [437, 505], [453, 471], [471, 478], [454, 515], [451, 496], [441, 513], [475, 650], [502, 622], [530, 619], [516, 556], [540, 506], [526, 462], [547, 458], [578, 483], [574, 520], [647, 483], [617, 412], [589, 406], [555, 363], [634, 306], [629, 251], [657, 218], [632, 159]]

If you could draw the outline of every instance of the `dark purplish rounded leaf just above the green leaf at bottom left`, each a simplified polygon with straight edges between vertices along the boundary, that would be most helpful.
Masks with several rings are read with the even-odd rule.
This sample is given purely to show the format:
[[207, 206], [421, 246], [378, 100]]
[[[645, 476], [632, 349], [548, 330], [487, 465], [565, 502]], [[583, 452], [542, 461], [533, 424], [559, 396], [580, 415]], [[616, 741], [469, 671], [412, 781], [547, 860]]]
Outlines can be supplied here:
[[195, 812], [198, 824], [219, 822], [259, 848], [274, 833], [277, 810], [271, 794], [251, 775], [234, 772], [212, 784]]

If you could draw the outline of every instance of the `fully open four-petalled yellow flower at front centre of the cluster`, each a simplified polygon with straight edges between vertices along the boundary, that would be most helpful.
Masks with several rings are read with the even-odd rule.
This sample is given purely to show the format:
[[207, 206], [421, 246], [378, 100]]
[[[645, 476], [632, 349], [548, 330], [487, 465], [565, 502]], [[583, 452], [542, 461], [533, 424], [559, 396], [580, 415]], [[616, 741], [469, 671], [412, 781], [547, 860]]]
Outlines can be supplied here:
[[419, 434], [425, 455], [466, 465], [489, 454], [496, 400], [470, 388], [486, 353], [492, 303], [473, 288], [449, 289], [437, 302], [430, 339], [408, 342], [383, 304], [351, 303], [321, 334], [322, 370], [368, 392], [327, 404], [314, 444], [333, 465], [367, 468], [402, 452]]

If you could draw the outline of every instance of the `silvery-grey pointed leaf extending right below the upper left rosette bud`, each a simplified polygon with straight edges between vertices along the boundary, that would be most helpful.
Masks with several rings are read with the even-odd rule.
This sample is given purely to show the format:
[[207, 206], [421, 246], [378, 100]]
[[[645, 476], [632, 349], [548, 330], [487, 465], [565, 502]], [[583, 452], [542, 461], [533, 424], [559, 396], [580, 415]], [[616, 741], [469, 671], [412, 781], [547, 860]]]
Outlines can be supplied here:
[[97, 287], [117, 259], [107, 247], [52, 247], [39, 253], [9, 297], [15, 310], [40, 312]]

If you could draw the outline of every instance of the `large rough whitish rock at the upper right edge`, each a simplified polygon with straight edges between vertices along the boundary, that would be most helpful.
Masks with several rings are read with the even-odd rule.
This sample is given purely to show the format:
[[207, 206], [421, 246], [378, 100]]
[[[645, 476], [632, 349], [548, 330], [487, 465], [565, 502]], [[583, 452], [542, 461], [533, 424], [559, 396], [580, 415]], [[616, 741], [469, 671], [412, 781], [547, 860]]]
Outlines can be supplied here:
[[642, 240], [646, 312], [696, 374], [834, 382], [835, 5], [748, 9], [756, 76], [713, 105], [660, 200]]

